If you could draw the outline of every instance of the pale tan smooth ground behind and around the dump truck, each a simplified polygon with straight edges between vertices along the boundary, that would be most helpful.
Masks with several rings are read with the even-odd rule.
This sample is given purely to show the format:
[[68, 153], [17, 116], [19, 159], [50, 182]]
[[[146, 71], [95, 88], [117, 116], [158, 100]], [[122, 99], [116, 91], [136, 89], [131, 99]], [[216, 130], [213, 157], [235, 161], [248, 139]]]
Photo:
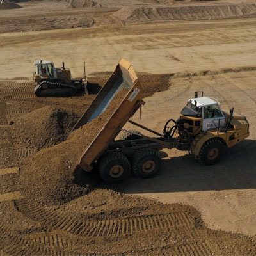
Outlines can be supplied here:
[[[220, 3], [223, 1], [216, 4]], [[8, 19], [10, 13], [28, 15], [26, 9], [1, 12], [4, 14], [0, 21]], [[136, 72], [175, 74], [170, 78], [169, 90], [145, 98], [142, 119], [139, 113], [132, 118], [156, 131], [161, 132], [169, 118], [177, 118], [197, 90], [218, 99], [223, 108], [234, 106], [235, 111], [247, 116], [250, 137], [231, 148], [219, 164], [201, 166], [186, 152], [166, 150], [168, 156], [156, 177], [131, 177], [119, 189], [164, 204], [191, 205], [213, 230], [256, 236], [255, 18], [139, 22], [126, 26], [102, 26], [101, 22], [100, 18], [99, 26], [88, 28], [1, 33], [0, 81], [30, 78], [35, 69], [33, 60], [38, 58], [52, 60], [56, 66], [65, 61], [73, 76], [79, 77], [83, 61], [86, 72], [92, 74], [114, 70], [122, 57], [132, 63]], [[4, 99], [8, 98], [2, 100], [10, 104]], [[4, 175], [4, 170], [0, 174]], [[20, 197], [16, 193], [8, 198]], [[6, 201], [4, 195], [0, 201]]]

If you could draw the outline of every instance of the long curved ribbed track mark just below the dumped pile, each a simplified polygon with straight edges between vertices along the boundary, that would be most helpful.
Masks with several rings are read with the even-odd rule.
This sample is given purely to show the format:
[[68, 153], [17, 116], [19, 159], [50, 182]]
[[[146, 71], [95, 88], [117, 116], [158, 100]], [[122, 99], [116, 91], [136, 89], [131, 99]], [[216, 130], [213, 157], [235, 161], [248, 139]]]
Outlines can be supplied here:
[[152, 229], [166, 229], [173, 227], [188, 227], [188, 234], [195, 236], [189, 232], [189, 228], [195, 226], [195, 220], [186, 212], [175, 212], [170, 214], [159, 214], [152, 216], [137, 216], [132, 218], [115, 218], [99, 221], [86, 220], [77, 221], [76, 216], [59, 216], [56, 209], [49, 207], [45, 209], [40, 205], [33, 205], [27, 200], [19, 200], [15, 202], [15, 207], [28, 218], [35, 221], [41, 221], [47, 227], [60, 229], [72, 234], [84, 237], [104, 237], [104, 236], [124, 236], [131, 235], [135, 232], [147, 232]]

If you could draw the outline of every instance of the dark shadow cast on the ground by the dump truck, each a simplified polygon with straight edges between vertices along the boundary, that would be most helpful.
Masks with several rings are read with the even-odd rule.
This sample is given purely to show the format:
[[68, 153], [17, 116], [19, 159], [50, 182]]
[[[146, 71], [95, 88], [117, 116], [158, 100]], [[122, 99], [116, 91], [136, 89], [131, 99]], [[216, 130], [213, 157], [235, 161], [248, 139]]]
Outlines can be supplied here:
[[256, 188], [256, 141], [244, 140], [227, 150], [221, 161], [205, 166], [189, 155], [163, 159], [150, 179], [134, 176], [124, 184], [128, 193], [220, 191]]

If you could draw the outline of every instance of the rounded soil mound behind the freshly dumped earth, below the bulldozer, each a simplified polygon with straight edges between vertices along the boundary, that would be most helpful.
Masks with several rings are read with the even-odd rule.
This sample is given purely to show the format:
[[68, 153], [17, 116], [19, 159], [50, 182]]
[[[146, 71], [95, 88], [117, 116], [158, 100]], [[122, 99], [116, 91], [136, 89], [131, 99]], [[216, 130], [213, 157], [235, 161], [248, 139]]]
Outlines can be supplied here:
[[52, 147], [67, 138], [77, 119], [74, 113], [45, 106], [19, 116], [12, 125], [13, 139], [27, 148]]

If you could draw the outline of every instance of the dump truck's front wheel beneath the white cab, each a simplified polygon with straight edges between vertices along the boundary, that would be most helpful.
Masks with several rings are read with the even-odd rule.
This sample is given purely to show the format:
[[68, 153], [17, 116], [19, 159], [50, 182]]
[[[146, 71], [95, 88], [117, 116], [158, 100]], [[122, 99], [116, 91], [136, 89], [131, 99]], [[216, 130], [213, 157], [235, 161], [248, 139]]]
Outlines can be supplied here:
[[225, 152], [225, 144], [219, 139], [211, 139], [204, 143], [198, 155], [198, 161], [205, 165], [216, 164]]

